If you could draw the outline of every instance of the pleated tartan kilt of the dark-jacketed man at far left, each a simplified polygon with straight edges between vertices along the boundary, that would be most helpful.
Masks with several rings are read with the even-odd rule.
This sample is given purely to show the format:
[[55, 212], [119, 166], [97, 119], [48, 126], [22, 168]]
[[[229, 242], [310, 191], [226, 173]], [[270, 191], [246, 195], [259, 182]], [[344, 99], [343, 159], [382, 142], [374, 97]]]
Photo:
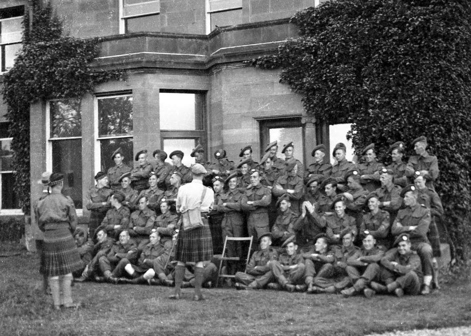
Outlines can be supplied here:
[[50, 276], [65, 275], [83, 267], [79, 250], [67, 227], [44, 232], [43, 274]]

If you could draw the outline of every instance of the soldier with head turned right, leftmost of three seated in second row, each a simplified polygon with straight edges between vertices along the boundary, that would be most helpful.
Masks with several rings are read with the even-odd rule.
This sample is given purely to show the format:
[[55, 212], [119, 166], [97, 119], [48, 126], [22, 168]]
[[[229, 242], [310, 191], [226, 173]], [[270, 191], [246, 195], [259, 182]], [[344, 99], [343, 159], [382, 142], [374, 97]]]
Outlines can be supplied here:
[[104, 228], [108, 236], [113, 239], [117, 238], [122, 230], [129, 227], [131, 212], [129, 208], [123, 205], [123, 201], [124, 194], [119, 190], [113, 191], [110, 197], [111, 209], [106, 211], [105, 218], [98, 226], [98, 229]]

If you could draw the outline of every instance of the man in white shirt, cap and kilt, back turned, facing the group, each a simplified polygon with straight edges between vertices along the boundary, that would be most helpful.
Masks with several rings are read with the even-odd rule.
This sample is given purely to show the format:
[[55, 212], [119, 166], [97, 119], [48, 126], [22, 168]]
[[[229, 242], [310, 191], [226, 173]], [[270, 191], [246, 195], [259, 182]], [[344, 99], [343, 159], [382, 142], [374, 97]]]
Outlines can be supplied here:
[[179, 299], [186, 262], [195, 262], [193, 300], [203, 300], [203, 261], [212, 258], [212, 240], [207, 213], [214, 203], [214, 191], [203, 185], [206, 169], [199, 163], [191, 166], [193, 179], [178, 189], [176, 208], [182, 225], [176, 240], [175, 290], [169, 298]]

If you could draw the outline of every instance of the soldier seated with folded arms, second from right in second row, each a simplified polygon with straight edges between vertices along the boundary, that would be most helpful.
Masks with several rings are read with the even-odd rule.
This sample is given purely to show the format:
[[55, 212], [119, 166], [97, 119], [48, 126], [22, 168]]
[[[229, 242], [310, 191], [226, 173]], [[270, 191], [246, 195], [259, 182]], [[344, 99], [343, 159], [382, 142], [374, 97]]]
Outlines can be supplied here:
[[365, 208], [369, 211], [363, 215], [360, 232], [368, 231], [378, 245], [387, 250], [391, 245], [388, 238], [389, 212], [379, 209], [379, 196], [374, 191], [366, 198]]

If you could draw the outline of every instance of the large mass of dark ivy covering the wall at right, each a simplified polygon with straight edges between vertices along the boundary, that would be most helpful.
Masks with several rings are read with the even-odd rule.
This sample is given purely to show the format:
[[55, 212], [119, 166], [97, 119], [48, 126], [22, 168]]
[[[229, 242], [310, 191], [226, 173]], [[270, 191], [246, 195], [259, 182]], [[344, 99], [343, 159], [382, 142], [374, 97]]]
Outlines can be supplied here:
[[[461, 256], [469, 247], [471, 4], [467, 0], [332, 0], [298, 12], [299, 37], [252, 61], [281, 67], [308, 114], [352, 123], [355, 148], [426, 135], [436, 189]], [[412, 147], [408, 153], [412, 153]]]

